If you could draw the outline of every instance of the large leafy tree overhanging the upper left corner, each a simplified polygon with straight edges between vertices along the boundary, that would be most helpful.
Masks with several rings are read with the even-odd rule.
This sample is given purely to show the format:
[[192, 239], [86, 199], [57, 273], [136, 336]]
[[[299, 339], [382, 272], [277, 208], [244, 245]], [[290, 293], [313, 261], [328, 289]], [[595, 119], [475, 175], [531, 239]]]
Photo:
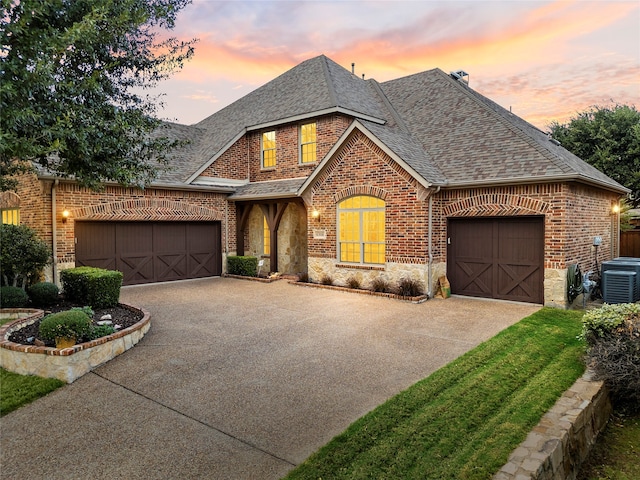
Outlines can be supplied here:
[[177, 142], [141, 92], [193, 54], [160, 38], [190, 0], [0, 1], [0, 191], [33, 164], [94, 189], [150, 182]]

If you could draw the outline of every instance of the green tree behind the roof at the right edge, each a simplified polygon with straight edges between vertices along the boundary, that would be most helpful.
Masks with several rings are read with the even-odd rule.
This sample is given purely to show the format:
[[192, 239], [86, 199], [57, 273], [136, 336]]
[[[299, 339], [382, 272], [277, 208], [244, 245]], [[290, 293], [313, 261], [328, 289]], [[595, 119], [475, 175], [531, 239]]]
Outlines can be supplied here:
[[549, 128], [567, 150], [629, 188], [631, 203], [640, 206], [640, 112], [635, 106], [593, 106]]

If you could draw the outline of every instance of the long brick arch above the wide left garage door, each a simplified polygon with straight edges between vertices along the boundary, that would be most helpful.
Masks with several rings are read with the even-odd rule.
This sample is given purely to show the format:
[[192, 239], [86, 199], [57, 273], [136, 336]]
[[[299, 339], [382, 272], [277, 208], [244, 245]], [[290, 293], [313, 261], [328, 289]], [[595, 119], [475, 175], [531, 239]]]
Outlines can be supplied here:
[[134, 199], [71, 209], [74, 220], [214, 221], [223, 214], [186, 202]]

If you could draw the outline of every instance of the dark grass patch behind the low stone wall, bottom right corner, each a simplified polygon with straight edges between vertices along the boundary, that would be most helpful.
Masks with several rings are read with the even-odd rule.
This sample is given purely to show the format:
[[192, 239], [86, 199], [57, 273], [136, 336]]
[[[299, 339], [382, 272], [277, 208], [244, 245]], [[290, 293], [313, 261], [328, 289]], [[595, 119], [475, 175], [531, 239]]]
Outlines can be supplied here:
[[579, 480], [640, 478], [640, 411], [615, 411], [593, 446]]

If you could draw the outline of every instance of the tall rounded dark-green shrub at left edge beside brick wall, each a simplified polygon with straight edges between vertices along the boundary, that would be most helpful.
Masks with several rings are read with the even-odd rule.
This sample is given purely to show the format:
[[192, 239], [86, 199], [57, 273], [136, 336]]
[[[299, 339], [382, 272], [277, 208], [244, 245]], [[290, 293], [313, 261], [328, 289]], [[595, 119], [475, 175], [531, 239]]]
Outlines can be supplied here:
[[26, 225], [0, 224], [2, 284], [25, 289], [35, 283], [51, 257], [47, 244]]

